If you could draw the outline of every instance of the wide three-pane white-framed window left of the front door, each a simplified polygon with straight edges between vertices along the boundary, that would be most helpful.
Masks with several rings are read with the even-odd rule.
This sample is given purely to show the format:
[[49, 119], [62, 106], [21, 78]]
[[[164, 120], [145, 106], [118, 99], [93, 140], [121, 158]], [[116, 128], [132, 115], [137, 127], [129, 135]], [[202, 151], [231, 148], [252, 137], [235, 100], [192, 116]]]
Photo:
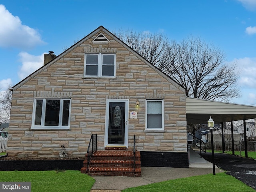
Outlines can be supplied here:
[[32, 129], [69, 129], [70, 98], [35, 98]]

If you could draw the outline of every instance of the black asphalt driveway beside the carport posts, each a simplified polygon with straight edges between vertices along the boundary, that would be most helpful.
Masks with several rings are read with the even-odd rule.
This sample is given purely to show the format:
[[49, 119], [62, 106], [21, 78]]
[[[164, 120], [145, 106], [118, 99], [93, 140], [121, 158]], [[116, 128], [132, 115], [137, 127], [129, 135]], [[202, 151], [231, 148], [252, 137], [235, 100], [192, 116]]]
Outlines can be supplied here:
[[[202, 153], [202, 157], [212, 162], [212, 153]], [[256, 190], [256, 160], [223, 153], [215, 153], [214, 157], [218, 168]]]

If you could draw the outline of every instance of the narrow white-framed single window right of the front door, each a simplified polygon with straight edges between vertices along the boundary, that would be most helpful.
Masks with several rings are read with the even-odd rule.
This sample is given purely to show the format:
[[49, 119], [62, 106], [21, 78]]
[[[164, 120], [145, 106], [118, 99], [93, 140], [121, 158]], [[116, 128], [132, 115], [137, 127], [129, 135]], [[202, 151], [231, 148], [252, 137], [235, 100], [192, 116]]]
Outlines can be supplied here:
[[146, 130], [164, 130], [163, 99], [146, 99]]

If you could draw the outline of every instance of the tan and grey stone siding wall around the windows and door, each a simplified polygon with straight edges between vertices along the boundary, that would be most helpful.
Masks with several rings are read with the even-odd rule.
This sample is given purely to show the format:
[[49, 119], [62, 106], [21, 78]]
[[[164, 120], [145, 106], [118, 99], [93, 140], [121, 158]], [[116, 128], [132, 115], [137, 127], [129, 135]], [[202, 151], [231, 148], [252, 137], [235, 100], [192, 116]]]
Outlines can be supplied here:
[[[128, 99], [129, 150], [136, 135], [136, 149], [143, 151], [186, 152], [186, 96], [111, 36], [108, 44], [94, 44], [92, 36], [80, 46], [40, 69], [36, 76], [16, 86], [12, 97], [8, 155], [18, 157], [57, 157], [65, 144], [68, 156], [84, 156], [91, 134], [98, 134], [98, 150], [104, 149], [106, 99]], [[116, 78], [84, 78], [84, 54], [116, 54]], [[57, 57], [58, 58], [58, 57]], [[32, 130], [35, 97], [65, 97], [71, 100], [70, 130]], [[165, 128], [145, 130], [147, 98], [164, 99]], [[136, 108], [137, 99], [140, 106]]]

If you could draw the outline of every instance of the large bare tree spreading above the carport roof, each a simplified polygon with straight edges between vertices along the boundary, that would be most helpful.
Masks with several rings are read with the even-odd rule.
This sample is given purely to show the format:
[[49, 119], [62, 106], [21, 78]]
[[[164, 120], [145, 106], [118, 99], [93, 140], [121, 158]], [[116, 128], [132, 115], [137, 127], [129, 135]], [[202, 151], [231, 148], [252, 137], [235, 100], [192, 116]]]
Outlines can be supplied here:
[[224, 56], [212, 44], [190, 37], [180, 43], [171, 42], [168, 62], [158, 67], [182, 84], [189, 97], [228, 101], [240, 97], [236, 86], [239, 74], [236, 64], [224, 63]]

